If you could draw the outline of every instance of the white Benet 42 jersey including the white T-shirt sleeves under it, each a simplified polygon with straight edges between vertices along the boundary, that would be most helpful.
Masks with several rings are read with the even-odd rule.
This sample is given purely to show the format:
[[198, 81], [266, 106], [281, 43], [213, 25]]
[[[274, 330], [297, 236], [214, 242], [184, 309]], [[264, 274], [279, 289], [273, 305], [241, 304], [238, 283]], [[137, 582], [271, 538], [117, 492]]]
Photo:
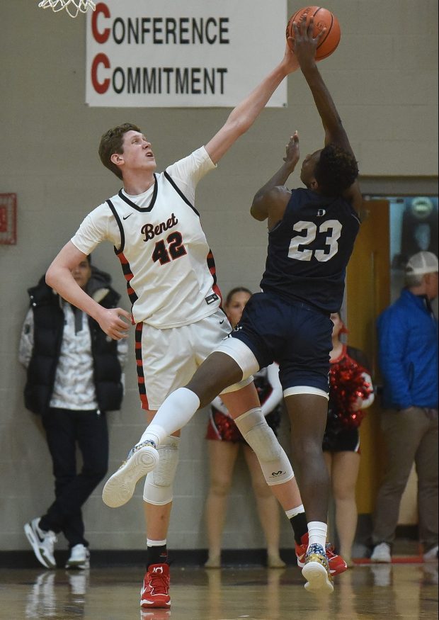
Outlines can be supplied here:
[[181, 327], [220, 305], [215, 263], [193, 206], [198, 181], [214, 168], [201, 147], [155, 174], [144, 193], [128, 196], [120, 190], [87, 215], [72, 238], [84, 254], [103, 240], [113, 243], [135, 323]]

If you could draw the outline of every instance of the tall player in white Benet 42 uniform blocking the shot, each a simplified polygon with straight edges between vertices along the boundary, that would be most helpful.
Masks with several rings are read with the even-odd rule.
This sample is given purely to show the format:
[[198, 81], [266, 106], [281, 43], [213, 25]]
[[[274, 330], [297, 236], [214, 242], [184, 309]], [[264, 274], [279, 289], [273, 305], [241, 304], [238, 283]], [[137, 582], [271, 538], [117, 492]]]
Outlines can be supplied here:
[[[136, 325], [139, 393], [148, 422], [166, 396], [188, 383], [231, 329], [220, 309], [215, 264], [194, 206], [195, 187], [250, 128], [280, 82], [297, 67], [287, 45], [280, 64], [234, 108], [214, 137], [164, 173], [156, 174], [152, 146], [137, 126], [120, 125], [101, 139], [101, 160], [122, 179], [123, 188], [85, 218], [52, 262], [46, 281], [114, 339], [127, 337], [129, 324]], [[103, 310], [72, 278], [72, 268], [104, 240], [113, 244], [122, 264], [131, 312]], [[236, 424], [243, 421], [246, 439], [295, 529], [295, 521], [304, 519], [302, 500], [290, 462], [261, 414], [251, 378], [225, 391], [224, 404]], [[147, 574], [142, 607], [170, 606], [166, 534], [178, 441], [179, 432], [174, 432], [161, 444], [159, 466], [145, 481]], [[125, 503], [138, 477], [122, 488], [110, 479], [104, 501], [113, 507]]]

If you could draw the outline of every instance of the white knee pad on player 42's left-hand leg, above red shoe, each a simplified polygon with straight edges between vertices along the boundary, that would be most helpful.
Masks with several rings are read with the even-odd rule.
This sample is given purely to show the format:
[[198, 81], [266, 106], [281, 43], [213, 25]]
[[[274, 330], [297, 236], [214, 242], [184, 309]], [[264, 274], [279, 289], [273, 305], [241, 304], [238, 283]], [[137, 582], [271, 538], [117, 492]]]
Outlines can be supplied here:
[[178, 465], [180, 437], [168, 436], [157, 448], [159, 463], [145, 479], [143, 499], [149, 504], [162, 506], [172, 502], [173, 479]]

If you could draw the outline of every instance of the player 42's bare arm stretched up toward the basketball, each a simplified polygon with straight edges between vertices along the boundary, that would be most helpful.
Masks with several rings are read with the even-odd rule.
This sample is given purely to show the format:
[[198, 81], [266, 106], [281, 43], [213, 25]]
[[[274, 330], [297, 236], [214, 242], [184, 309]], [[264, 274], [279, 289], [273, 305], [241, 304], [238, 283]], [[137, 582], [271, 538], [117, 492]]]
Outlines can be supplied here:
[[224, 153], [236, 142], [239, 136], [253, 125], [259, 113], [273, 95], [283, 79], [299, 68], [297, 59], [290, 45], [285, 45], [283, 60], [268, 76], [256, 86], [251, 94], [241, 101], [229, 114], [222, 128], [207, 142], [205, 148], [214, 164], [220, 161]]

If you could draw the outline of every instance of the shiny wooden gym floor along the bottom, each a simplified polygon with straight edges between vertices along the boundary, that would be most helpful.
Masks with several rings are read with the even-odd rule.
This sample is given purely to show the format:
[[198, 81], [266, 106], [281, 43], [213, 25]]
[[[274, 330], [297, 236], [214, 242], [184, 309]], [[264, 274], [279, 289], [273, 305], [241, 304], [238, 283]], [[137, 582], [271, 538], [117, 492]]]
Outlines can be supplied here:
[[143, 569], [0, 570], [2, 620], [357, 620], [438, 618], [438, 565], [357, 565], [334, 593], [304, 590], [300, 569], [171, 568], [171, 610], [139, 609]]

